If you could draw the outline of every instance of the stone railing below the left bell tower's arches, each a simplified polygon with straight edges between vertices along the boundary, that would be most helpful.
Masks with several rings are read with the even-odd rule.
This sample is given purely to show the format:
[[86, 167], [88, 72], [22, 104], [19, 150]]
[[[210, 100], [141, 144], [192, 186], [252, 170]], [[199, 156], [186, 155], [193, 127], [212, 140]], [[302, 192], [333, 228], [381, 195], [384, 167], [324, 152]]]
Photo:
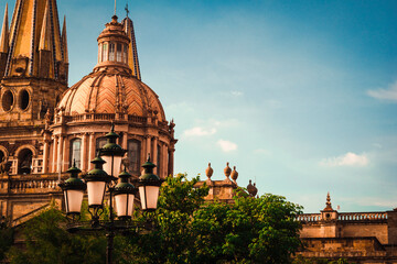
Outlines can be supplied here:
[[[61, 179], [68, 178], [68, 175], [61, 175]], [[57, 186], [58, 175], [15, 175], [10, 178], [1, 178], [0, 187], [1, 193], [10, 191], [12, 194], [26, 194], [26, 193], [53, 193], [60, 191], [61, 188]], [[7, 189], [7, 190], [6, 190]]]

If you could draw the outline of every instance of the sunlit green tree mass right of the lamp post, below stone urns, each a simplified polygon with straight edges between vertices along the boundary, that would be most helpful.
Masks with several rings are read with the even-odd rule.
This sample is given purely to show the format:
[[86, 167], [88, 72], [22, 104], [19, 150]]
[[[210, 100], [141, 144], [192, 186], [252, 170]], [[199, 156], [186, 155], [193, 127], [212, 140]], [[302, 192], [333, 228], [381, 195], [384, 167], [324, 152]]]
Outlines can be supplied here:
[[[258, 199], [238, 191], [235, 202], [204, 204], [208, 188], [194, 188], [198, 178], [169, 178], [161, 188], [157, 230], [133, 235], [129, 243], [139, 257], [130, 263], [290, 263], [300, 245], [301, 208], [283, 197]], [[153, 250], [154, 249], [154, 250]]]

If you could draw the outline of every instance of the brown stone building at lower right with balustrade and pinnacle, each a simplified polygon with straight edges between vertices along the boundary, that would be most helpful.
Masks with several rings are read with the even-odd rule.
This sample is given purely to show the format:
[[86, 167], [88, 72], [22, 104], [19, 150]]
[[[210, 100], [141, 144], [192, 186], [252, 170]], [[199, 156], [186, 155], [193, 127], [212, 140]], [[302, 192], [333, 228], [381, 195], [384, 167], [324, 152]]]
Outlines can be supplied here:
[[339, 212], [330, 195], [320, 213], [303, 213], [298, 252], [305, 257], [347, 258], [355, 263], [397, 263], [397, 209], [379, 212]]

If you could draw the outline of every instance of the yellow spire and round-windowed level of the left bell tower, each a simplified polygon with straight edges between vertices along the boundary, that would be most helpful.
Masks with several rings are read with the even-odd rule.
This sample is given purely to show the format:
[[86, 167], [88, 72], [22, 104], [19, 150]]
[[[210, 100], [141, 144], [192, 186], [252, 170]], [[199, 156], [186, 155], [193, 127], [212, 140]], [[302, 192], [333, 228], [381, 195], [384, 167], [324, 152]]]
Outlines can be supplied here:
[[56, 0], [17, 0], [10, 26], [6, 7], [0, 36], [0, 127], [40, 125], [67, 88]]

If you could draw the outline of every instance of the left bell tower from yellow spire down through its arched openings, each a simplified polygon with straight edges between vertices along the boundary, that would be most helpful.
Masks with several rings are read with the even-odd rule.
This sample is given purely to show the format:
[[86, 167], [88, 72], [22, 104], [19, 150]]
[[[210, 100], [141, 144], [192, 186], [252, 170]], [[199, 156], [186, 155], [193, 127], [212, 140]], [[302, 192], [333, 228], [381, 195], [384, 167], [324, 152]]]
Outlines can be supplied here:
[[41, 131], [67, 89], [66, 23], [61, 31], [56, 0], [15, 0], [0, 29], [0, 157], [10, 174], [39, 174]]

